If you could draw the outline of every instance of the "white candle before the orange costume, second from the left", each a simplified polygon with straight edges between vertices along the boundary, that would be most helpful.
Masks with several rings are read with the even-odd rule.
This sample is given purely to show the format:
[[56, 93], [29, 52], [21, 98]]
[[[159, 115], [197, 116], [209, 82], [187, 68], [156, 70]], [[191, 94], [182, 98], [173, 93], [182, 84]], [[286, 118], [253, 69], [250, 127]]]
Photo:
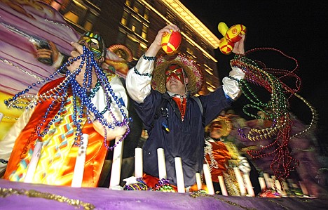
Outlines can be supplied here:
[[83, 181], [84, 166], [86, 164], [86, 150], [89, 142], [89, 135], [86, 133], [82, 134], [83, 145], [78, 148], [78, 155], [75, 161], [73, 180], [71, 186], [74, 188], [81, 188]]

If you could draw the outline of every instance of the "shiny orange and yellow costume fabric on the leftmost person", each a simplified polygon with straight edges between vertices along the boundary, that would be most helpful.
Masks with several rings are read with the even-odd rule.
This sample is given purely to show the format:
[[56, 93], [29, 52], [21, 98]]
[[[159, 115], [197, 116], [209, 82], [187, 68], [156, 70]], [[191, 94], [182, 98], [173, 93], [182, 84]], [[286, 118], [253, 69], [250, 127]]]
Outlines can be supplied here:
[[[42, 94], [52, 88], [55, 88], [63, 81], [63, 78], [51, 81], [43, 86], [39, 94]], [[71, 185], [74, 173], [74, 166], [76, 156], [78, 155], [78, 146], [74, 146], [75, 133], [73, 131], [73, 124], [69, 125], [69, 118], [73, 113], [73, 100], [71, 91], [69, 89], [69, 97], [65, 102], [65, 114], [62, 119], [57, 119], [53, 125], [50, 126], [48, 133], [39, 138], [36, 134], [37, 126], [46, 113], [53, 98], [49, 98], [42, 103], [36, 105], [32, 116], [27, 122], [27, 125], [20, 132], [20, 135], [15, 140], [15, 145], [8, 162], [4, 178], [11, 181], [23, 181], [27, 172], [27, 165], [30, 161], [30, 155], [34, 150], [36, 140], [43, 142], [39, 163], [34, 174], [33, 183], [44, 183], [49, 185]], [[50, 111], [46, 122], [43, 122], [44, 127], [48, 125], [60, 110], [60, 103], [56, 103], [53, 110]], [[100, 110], [102, 111], [102, 110]], [[97, 187], [102, 165], [107, 155], [107, 148], [103, 146], [104, 137], [95, 131], [93, 124], [88, 123], [86, 116], [81, 122], [82, 133], [89, 135], [88, 149], [86, 151], [86, 164], [83, 175], [82, 187]], [[58, 128], [62, 126], [60, 131]], [[60, 135], [62, 134], [62, 135]]]

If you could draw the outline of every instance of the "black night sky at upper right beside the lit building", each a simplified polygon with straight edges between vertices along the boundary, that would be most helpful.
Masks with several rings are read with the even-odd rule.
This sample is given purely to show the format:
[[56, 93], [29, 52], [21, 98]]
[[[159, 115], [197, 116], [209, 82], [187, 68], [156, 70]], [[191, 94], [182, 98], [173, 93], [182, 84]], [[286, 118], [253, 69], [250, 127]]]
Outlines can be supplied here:
[[[219, 22], [228, 27], [242, 24], [247, 27], [245, 50], [275, 48], [295, 58], [299, 63], [296, 74], [302, 86], [298, 92], [318, 112], [317, 137], [327, 148], [328, 141], [328, 1], [181, 1], [219, 39]], [[220, 79], [229, 72], [228, 61], [233, 55], [215, 51]], [[268, 62], [268, 67], [293, 70], [295, 64], [278, 53], [261, 51], [256, 55]], [[259, 92], [261, 95], [261, 93]], [[263, 97], [266, 97], [264, 94]], [[244, 97], [235, 102], [235, 111], [242, 115], [241, 107], [247, 102]], [[291, 112], [305, 124], [310, 123], [311, 113], [301, 100], [290, 100]], [[323, 152], [327, 152], [323, 151]]]

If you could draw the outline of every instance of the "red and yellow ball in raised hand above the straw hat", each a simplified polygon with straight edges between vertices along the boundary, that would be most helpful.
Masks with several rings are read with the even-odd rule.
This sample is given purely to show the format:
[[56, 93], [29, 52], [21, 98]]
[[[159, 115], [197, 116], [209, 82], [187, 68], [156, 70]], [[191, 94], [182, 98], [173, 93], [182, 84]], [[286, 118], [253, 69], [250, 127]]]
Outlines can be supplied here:
[[163, 51], [168, 55], [173, 55], [177, 53], [177, 49], [181, 44], [181, 34], [179, 32], [174, 32], [171, 30], [171, 33], [165, 32], [162, 37], [161, 46]]

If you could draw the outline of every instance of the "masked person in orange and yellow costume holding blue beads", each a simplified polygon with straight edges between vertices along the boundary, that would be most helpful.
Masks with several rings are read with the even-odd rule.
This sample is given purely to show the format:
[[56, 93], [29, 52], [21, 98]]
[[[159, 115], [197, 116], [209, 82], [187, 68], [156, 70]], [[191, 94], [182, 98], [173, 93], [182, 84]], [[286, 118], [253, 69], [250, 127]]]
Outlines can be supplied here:
[[[107, 51], [102, 37], [86, 32], [72, 46], [69, 63], [62, 66], [69, 70], [67, 76], [44, 84], [36, 103], [28, 105], [1, 141], [13, 144], [5, 179], [25, 181], [35, 145], [41, 142], [32, 183], [71, 185], [78, 150], [86, 147], [82, 186], [96, 187], [109, 141], [128, 133], [125, 88], [116, 74], [100, 67]], [[88, 134], [88, 145], [83, 134]]]

